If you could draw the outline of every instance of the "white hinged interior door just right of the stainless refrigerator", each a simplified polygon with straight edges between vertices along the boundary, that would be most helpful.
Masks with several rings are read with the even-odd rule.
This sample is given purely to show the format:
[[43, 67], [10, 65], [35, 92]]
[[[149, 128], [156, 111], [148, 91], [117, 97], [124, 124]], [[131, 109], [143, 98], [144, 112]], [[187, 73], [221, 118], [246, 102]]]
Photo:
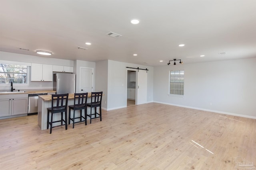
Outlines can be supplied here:
[[80, 93], [93, 92], [93, 68], [81, 68]]

